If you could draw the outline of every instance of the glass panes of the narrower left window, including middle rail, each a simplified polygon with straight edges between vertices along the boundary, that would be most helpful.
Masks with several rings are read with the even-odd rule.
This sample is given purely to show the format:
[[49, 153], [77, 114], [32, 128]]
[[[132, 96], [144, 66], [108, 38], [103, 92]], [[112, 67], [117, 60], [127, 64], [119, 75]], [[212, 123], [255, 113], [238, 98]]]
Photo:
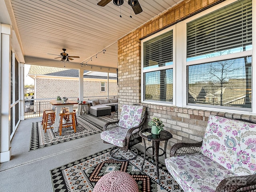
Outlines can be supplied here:
[[173, 101], [173, 30], [142, 40], [143, 100]]

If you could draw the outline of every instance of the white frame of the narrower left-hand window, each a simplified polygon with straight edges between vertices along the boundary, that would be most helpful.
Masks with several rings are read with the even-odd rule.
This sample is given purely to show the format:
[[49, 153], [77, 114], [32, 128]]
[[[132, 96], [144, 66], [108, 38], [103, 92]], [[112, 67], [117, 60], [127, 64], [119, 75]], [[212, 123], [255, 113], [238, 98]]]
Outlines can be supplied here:
[[[159, 35], [162, 35], [162, 34], [168, 32], [170, 30], [172, 30], [172, 34], [173, 34], [173, 42], [172, 42], [172, 44], [173, 44], [173, 50], [172, 50], [173, 51], [172, 52], [173, 53], [173, 64], [172, 65], [168, 65], [168, 66], [162, 66], [162, 67], [158, 67], [158, 68], [152, 68], [152, 69], [145, 69], [145, 70], [143, 70], [143, 63], [144, 63], [143, 43], [148, 41], [148, 40], [150, 40], [150, 39], [152, 39], [152, 38], [155, 38], [155, 37], [157, 37]], [[168, 27], [168, 28], [166, 28], [166, 29], [156, 33], [156, 34], [153, 34], [152, 36], [149, 36], [149, 37], [141, 40], [141, 102], [142, 103], [149, 103], [149, 104], [156, 104], [156, 105], [166, 105], [166, 106], [174, 106], [175, 103], [176, 103], [176, 97], [175, 97], [175, 94], [176, 94], [176, 92], [175, 92], [175, 90], [176, 90], [176, 86], [175, 86], [176, 85], [176, 80], [175, 80], [176, 79], [176, 73], [175, 73], [175, 60], [176, 60], [175, 47], [176, 47], [176, 40], [175, 40], [175, 38], [176, 37], [175, 37], [175, 34], [176, 34], [175, 26], [171, 26], [171, 27]], [[166, 70], [166, 69], [172, 69], [173, 70], [173, 74], [172, 74], [173, 75], [173, 91], [172, 91], [173, 92], [173, 96], [172, 96], [173, 100], [172, 100], [172, 103], [169, 103], [169, 102], [158, 102], [158, 101], [154, 101], [154, 102], [152, 102], [152, 101], [144, 101], [144, 73], [152, 72], [152, 71], [158, 71], [158, 70]]]

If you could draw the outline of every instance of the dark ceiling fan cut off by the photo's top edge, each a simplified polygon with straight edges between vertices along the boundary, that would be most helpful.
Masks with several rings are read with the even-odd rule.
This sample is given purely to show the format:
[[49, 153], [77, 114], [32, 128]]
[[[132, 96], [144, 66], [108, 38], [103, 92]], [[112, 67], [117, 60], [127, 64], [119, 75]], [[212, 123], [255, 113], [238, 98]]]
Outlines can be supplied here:
[[[100, 2], [97, 3], [97, 5], [104, 7], [110, 1], [111, 0], [101, 0]], [[113, 3], [116, 6], [120, 6], [120, 5], [124, 4], [124, 0], [113, 0]], [[130, 5], [132, 7], [132, 10], [134, 11], [135, 14], [139, 14], [143, 11], [138, 0], [128, 0], [128, 5]]]

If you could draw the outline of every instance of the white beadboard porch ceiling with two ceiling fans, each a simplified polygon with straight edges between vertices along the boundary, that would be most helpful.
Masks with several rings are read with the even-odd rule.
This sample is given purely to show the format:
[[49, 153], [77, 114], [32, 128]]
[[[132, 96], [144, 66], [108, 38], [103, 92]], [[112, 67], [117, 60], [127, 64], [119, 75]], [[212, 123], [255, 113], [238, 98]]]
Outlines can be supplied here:
[[130, 18], [130, 6], [124, 0], [120, 18], [120, 6], [111, 1], [101, 7], [99, 1], [10, 0], [25, 62], [26, 58], [60, 60], [51, 54], [59, 55], [66, 48], [69, 56], [80, 56], [70, 61], [74, 68], [82, 62], [117, 68], [117, 40], [180, 2], [139, 0], [143, 12], [132, 11]]

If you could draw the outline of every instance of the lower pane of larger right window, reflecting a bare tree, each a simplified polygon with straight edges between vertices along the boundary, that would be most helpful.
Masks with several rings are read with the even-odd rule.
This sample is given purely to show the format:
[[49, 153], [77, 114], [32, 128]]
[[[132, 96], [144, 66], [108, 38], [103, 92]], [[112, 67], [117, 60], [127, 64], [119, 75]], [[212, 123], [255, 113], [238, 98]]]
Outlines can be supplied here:
[[251, 108], [252, 57], [188, 66], [188, 104]]

